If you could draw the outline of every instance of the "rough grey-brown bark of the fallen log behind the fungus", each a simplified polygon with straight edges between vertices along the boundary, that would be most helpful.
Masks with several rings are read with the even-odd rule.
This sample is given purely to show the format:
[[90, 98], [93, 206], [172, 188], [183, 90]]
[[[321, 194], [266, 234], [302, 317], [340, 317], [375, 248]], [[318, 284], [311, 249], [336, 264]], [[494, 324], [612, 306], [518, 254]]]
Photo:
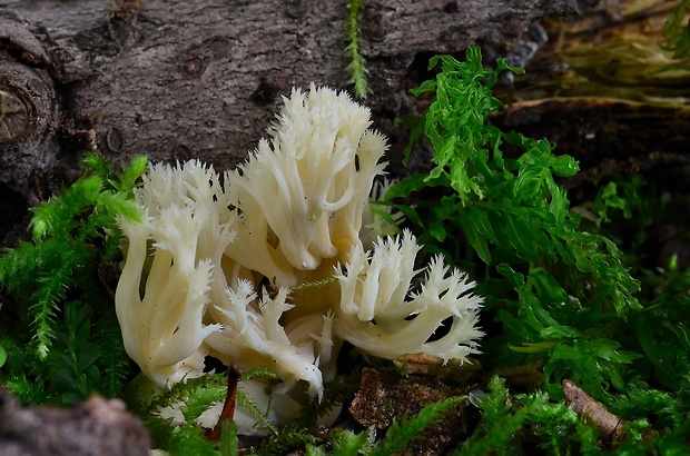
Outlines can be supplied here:
[[[504, 46], [534, 21], [595, 2], [365, 1], [366, 103], [392, 153], [404, 142], [393, 119], [414, 109], [407, 89], [428, 56]], [[231, 167], [292, 87], [347, 88], [346, 21], [342, 0], [0, 0], [0, 60], [42, 81], [23, 87], [27, 105], [52, 97], [47, 108], [28, 107], [33, 123], [23, 135], [0, 142], [0, 182], [40, 198], [51, 190], [47, 177], [63, 177], [91, 142], [110, 159]], [[21, 86], [2, 67], [0, 90]]]

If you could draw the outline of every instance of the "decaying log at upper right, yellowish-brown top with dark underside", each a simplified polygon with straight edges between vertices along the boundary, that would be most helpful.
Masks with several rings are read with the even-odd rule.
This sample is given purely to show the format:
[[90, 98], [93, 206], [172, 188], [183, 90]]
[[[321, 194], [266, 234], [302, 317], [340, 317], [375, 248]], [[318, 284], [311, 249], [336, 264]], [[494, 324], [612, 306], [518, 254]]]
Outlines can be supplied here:
[[515, 78], [493, 117], [499, 127], [545, 137], [580, 161], [583, 181], [642, 174], [670, 191], [690, 182], [690, 59], [662, 48], [676, 3], [609, 0], [550, 37]]

